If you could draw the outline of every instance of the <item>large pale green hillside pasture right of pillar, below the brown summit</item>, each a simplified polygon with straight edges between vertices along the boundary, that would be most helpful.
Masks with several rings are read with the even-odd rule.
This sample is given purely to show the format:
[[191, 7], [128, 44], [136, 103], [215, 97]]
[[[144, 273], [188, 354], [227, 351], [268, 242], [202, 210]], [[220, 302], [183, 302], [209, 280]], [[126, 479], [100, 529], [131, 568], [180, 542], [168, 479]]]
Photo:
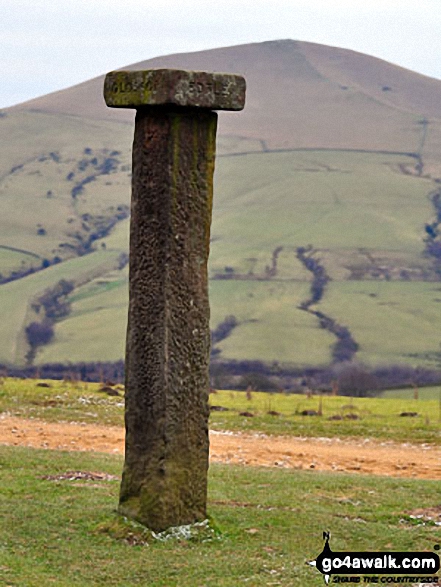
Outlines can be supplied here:
[[[410, 157], [294, 151], [222, 158], [215, 181], [212, 271], [240, 272], [277, 246], [421, 252], [433, 183], [404, 175]], [[234, 245], [235, 253], [232, 251]], [[246, 255], [242, 251], [246, 251]], [[254, 254], [253, 254], [254, 252]], [[259, 255], [260, 252], [260, 255]], [[218, 259], [221, 263], [218, 263]]]

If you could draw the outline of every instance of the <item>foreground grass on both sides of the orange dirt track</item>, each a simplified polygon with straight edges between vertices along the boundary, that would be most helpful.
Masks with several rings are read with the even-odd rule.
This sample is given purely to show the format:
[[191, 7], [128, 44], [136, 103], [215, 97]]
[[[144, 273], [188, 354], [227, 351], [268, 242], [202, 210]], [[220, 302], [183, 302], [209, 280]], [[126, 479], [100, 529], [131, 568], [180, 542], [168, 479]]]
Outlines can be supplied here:
[[[0, 414], [122, 426], [122, 395], [39, 383], [3, 379]], [[230, 410], [212, 412], [211, 428], [441, 444], [434, 400], [326, 397], [323, 416], [310, 418], [299, 412], [318, 410], [317, 397], [224, 391], [211, 404]], [[420, 416], [400, 418], [405, 409]], [[348, 413], [361, 420], [327, 420]], [[121, 470], [115, 455], [0, 446], [0, 583], [318, 587], [323, 578], [306, 563], [321, 552], [324, 530], [340, 551], [432, 551], [439, 542], [428, 517], [439, 505], [436, 481], [213, 464], [209, 525], [165, 540], [116, 514]]]

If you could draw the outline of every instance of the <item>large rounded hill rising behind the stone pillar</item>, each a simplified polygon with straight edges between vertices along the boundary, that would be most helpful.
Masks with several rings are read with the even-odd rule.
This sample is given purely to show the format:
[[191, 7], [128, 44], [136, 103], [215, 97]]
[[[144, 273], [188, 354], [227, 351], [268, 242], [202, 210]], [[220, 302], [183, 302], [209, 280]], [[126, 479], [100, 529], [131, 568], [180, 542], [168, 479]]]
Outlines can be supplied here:
[[[219, 121], [212, 328], [236, 321], [216, 357], [441, 365], [441, 81], [291, 40], [126, 69], [152, 67], [247, 79], [245, 110]], [[0, 362], [24, 362], [26, 345], [10, 341], [36, 317], [19, 308], [75, 257], [95, 273], [72, 274], [71, 313], [35, 360], [122, 356], [133, 113], [106, 108], [102, 86], [95, 78], [0, 117], [0, 297], [20, 316], [5, 324]], [[114, 255], [110, 273], [99, 252]], [[39, 292], [25, 287], [42, 266], [57, 271], [39, 271]]]

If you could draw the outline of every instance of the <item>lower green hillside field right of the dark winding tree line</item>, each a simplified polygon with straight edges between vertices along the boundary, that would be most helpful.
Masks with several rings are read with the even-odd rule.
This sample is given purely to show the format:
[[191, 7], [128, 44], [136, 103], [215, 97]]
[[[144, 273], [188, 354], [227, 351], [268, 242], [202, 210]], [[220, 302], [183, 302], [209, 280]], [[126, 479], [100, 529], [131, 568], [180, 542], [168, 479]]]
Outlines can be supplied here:
[[331, 282], [317, 309], [346, 326], [369, 365], [441, 365], [441, 284]]

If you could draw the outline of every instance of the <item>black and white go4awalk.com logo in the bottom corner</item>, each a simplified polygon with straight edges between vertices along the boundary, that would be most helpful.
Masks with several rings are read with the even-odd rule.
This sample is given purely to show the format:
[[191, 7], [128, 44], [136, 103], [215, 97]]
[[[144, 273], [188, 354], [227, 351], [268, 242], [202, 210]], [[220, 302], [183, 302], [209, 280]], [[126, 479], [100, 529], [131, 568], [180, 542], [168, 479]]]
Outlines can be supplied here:
[[[434, 584], [440, 568], [434, 552], [333, 552], [330, 534], [323, 532], [325, 545], [318, 557], [309, 562], [323, 573], [325, 583]], [[393, 575], [393, 576], [390, 576]]]

